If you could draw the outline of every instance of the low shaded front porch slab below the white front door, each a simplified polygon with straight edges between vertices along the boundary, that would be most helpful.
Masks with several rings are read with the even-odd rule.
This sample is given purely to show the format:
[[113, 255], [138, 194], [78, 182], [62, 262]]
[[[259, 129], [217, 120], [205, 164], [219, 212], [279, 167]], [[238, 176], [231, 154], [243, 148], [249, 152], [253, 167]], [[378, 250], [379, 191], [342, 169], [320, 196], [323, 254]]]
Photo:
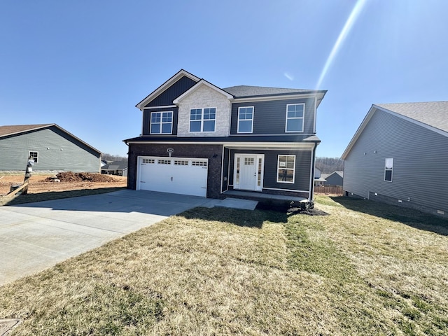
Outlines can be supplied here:
[[314, 206], [314, 204], [309, 202], [306, 197], [273, 195], [244, 190], [227, 190], [222, 195], [225, 197], [239, 198], [242, 200], [255, 200], [261, 204], [272, 204], [274, 206], [292, 206], [300, 207], [302, 209], [312, 209]]

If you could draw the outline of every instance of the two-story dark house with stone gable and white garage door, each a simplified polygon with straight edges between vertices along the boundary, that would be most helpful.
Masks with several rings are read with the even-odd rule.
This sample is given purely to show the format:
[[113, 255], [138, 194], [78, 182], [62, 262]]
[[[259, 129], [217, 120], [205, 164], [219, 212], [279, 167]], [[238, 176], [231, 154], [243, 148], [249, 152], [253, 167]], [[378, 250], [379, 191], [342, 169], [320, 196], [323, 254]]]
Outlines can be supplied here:
[[326, 91], [221, 88], [185, 70], [143, 99], [128, 188], [223, 198], [228, 190], [312, 204], [316, 109]]

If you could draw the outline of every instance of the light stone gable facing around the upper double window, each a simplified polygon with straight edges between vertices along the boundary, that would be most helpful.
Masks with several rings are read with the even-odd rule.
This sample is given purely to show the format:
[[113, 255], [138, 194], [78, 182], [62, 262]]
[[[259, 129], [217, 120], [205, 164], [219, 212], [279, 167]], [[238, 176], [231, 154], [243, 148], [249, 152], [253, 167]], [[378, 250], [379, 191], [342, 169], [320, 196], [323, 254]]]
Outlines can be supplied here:
[[[230, 101], [207, 85], [198, 87], [179, 102], [178, 137], [228, 137], [230, 134]], [[215, 132], [190, 133], [190, 109], [216, 108]]]

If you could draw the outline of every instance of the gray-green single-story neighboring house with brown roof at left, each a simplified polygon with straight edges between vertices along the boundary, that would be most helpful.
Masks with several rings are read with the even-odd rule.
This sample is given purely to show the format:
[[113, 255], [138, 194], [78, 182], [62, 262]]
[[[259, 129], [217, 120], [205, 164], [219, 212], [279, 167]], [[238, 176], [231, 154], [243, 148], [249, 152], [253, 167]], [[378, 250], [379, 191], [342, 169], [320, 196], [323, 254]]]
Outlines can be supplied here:
[[99, 172], [102, 153], [56, 124], [0, 126], [0, 171]]

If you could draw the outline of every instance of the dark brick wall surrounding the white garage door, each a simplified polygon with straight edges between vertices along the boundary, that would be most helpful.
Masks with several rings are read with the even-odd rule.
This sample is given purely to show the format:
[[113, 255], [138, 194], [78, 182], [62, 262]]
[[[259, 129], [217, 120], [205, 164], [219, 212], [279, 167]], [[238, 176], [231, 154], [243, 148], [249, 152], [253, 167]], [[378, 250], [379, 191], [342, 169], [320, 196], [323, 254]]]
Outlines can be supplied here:
[[[173, 158], [207, 158], [208, 179], [207, 197], [223, 198], [221, 189], [221, 145], [183, 145], [183, 144], [130, 144], [128, 156], [127, 188], [137, 188], [137, 158], [139, 156], [168, 157], [167, 148], [173, 148]], [[216, 158], [214, 156], [216, 155]], [[187, 177], [187, 176], [186, 176]]]

